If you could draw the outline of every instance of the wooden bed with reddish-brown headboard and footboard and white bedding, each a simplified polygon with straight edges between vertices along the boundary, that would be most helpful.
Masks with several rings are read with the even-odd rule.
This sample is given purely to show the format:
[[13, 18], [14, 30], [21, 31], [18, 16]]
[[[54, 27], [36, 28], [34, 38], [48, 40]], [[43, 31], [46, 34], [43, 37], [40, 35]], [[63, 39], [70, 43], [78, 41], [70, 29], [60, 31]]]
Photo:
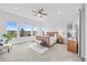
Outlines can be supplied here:
[[51, 47], [56, 43], [57, 34], [57, 32], [46, 32], [46, 35], [36, 35], [36, 40], [42, 41], [41, 45]]

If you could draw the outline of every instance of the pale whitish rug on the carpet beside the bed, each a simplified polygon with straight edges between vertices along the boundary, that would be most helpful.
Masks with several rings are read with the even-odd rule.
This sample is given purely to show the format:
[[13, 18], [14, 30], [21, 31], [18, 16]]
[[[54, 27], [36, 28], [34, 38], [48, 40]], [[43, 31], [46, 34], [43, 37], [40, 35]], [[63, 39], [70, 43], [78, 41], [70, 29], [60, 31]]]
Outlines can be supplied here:
[[43, 54], [48, 50], [48, 47], [42, 46], [37, 43], [30, 44], [29, 47], [37, 52], [39, 54]]

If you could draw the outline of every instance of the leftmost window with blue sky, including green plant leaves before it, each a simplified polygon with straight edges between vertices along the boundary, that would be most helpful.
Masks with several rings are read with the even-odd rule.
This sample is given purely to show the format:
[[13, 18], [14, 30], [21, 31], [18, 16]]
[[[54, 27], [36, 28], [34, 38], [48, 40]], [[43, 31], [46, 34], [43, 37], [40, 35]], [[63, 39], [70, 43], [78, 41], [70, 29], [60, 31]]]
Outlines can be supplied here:
[[17, 36], [18, 25], [15, 21], [8, 21], [6, 24], [6, 34], [2, 34], [8, 41]]

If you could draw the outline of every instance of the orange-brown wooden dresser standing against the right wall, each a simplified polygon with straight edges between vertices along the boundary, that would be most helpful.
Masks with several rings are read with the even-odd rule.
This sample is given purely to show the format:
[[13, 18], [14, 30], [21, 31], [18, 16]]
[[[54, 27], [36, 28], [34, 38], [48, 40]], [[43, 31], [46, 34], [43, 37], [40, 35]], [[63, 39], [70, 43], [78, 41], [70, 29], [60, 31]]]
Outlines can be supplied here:
[[69, 51], [69, 52], [73, 52], [73, 53], [77, 53], [77, 51], [78, 51], [78, 44], [77, 44], [77, 41], [75, 41], [75, 40], [68, 40], [67, 41], [67, 50]]

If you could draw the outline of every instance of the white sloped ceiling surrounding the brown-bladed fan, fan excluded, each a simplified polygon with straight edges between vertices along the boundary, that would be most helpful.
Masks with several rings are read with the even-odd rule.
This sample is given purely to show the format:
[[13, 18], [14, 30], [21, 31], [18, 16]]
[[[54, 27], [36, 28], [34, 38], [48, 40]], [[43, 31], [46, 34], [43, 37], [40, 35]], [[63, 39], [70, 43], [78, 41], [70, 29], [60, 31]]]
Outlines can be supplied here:
[[[0, 3], [0, 10], [36, 21], [43, 25], [57, 26], [77, 22], [79, 3]], [[44, 9], [47, 15], [33, 17], [31, 10]]]

